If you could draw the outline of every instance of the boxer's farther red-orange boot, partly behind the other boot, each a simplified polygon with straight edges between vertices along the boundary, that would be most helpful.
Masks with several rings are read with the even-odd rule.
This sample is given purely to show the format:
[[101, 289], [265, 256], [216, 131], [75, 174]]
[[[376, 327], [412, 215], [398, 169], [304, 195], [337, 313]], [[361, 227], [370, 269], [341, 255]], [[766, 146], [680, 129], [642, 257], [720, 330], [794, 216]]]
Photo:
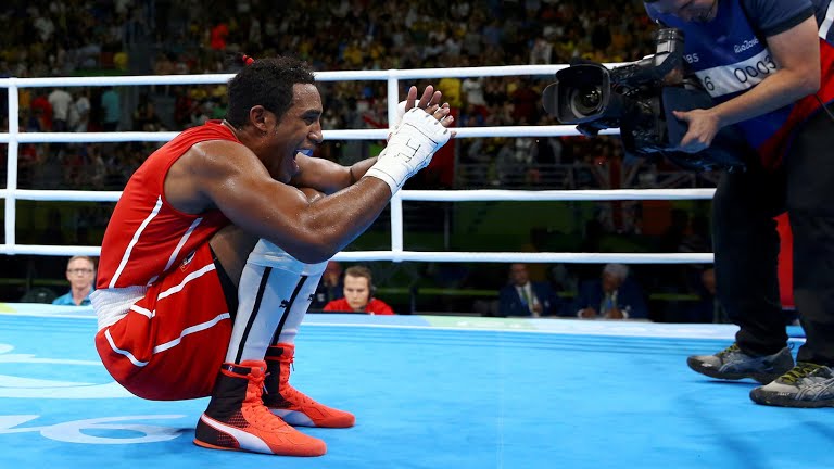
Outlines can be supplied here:
[[266, 351], [266, 393], [264, 404], [273, 414], [296, 427], [348, 428], [353, 414], [319, 404], [290, 385], [290, 368], [295, 353], [292, 344], [280, 343]]

